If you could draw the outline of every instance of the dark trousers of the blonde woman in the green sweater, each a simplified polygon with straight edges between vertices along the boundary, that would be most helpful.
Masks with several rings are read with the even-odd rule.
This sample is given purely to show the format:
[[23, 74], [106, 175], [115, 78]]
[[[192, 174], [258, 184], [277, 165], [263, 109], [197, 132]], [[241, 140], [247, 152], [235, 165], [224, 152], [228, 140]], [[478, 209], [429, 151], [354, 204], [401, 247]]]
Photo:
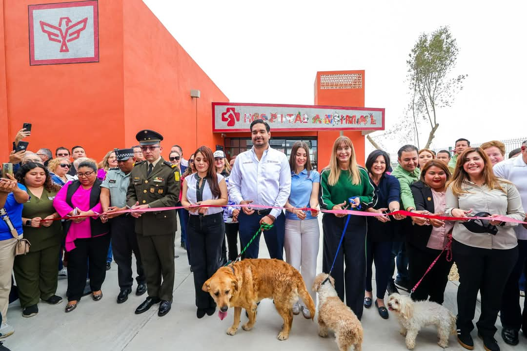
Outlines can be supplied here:
[[[366, 219], [349, 215], [349, 224], [337, 255], [331, 276], [335, 279], [335, 290], [338, 297], [353, 310], [360, 320], [363, 314], [364, 289], [366, 283]], [[323, 240], [323, 268], [329, 273], [331, 264], [337, 253], [338, 243], [344, 231], [347, 217], [336, 217], [326, 213], [322, 217]], [[344, 269], [346, 264], [346, 269]]]

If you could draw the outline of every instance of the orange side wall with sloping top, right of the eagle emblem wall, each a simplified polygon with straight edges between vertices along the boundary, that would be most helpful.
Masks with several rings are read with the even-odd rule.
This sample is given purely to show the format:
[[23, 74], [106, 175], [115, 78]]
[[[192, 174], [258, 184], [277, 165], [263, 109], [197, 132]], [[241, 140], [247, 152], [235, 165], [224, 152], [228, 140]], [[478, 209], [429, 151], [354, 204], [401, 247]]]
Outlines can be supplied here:
[[[186, 159], [201, 145], [223, 145], [220, 133], [212, 133], [211, 104], [227, 96], [142, 1], [126, 0], [123, 17], [126, 145], [136, 144], [143, 128], [163, 135], [165, 158], [173, 144]], [[201, 97], [191, 98], [190, 89]]]

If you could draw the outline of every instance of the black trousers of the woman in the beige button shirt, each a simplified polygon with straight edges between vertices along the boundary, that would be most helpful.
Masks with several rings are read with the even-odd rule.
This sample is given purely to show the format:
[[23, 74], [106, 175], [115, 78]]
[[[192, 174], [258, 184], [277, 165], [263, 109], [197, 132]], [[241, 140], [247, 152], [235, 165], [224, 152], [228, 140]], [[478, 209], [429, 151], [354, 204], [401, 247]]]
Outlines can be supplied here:
[[477, 330], [482, 336], [494, 336], [503, 289], [518, 260], [518, 246], [504, 250], [485, 249], [452, 240], [452, 253], [460, 275], [457, 289], [457, 328], [465, 333], [474, 329], [472, 319], [477, 291], [480, 290], [481, 315], [476, 323]]

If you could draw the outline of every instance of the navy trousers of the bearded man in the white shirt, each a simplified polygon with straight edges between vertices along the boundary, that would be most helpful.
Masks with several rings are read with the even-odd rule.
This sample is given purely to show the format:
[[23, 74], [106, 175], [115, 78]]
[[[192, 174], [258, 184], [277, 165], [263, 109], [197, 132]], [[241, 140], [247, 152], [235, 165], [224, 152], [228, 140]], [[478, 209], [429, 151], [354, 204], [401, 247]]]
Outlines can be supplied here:
[[[245, 247], [251, 240], [252, 236], [256, 234], [256, 231], [260, 228], [260, 219], [262, 215], [258, 215], [255, 211], [252, 215], [248, 216], [243, 211], [240, 211], [238, 215], [238, 222], [240, 223], [240, 244], [241, 248]], [[280, 213], [276, 217], [275, 223], [272, 228], [264, 231], [265, 243], [269, 250], [269, 257], [284, 259], [284, 235], [285, 235], [285, 223], [286, 216], [284, 213]], [[258, 258], [258, 252], [260, 250], [260, 235], [252, 241], [251, 245], [247, 247], [246, 252], [242, 255], [242, 258]]]

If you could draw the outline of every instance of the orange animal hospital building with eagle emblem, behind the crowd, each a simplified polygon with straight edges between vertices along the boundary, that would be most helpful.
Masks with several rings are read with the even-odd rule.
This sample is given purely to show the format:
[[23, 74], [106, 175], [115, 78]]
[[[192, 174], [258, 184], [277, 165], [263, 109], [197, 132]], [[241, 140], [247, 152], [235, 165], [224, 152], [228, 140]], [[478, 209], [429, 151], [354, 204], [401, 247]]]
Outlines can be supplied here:
[[[200, 145], [222, 146], [228, 157], [250, 147], [248, 129], [214, 131], [212, 103], [229, 99], [141, 0], [41, 3], [0, 0], [4, 155], [25, 122], [33, 125], [29, 150], [81, 145], [97, 161], [114, 147], [136, 145], [135, 134], [145, 128], [164, 136], [165, 158], [173, 144], [187, 159]], [[314, 105], [363, 108], [364, 83], [364, 71], [318, 72]], [[364, 131], [384, 128], [384, 109], [375, 110], [382, 110], [381, 124], [343, 132], [359, 163]], [[309, 141], [318, 168], [327, 165], [341, 129], [270, 124], [272, 147], [287, 153], [292, 142]]]

